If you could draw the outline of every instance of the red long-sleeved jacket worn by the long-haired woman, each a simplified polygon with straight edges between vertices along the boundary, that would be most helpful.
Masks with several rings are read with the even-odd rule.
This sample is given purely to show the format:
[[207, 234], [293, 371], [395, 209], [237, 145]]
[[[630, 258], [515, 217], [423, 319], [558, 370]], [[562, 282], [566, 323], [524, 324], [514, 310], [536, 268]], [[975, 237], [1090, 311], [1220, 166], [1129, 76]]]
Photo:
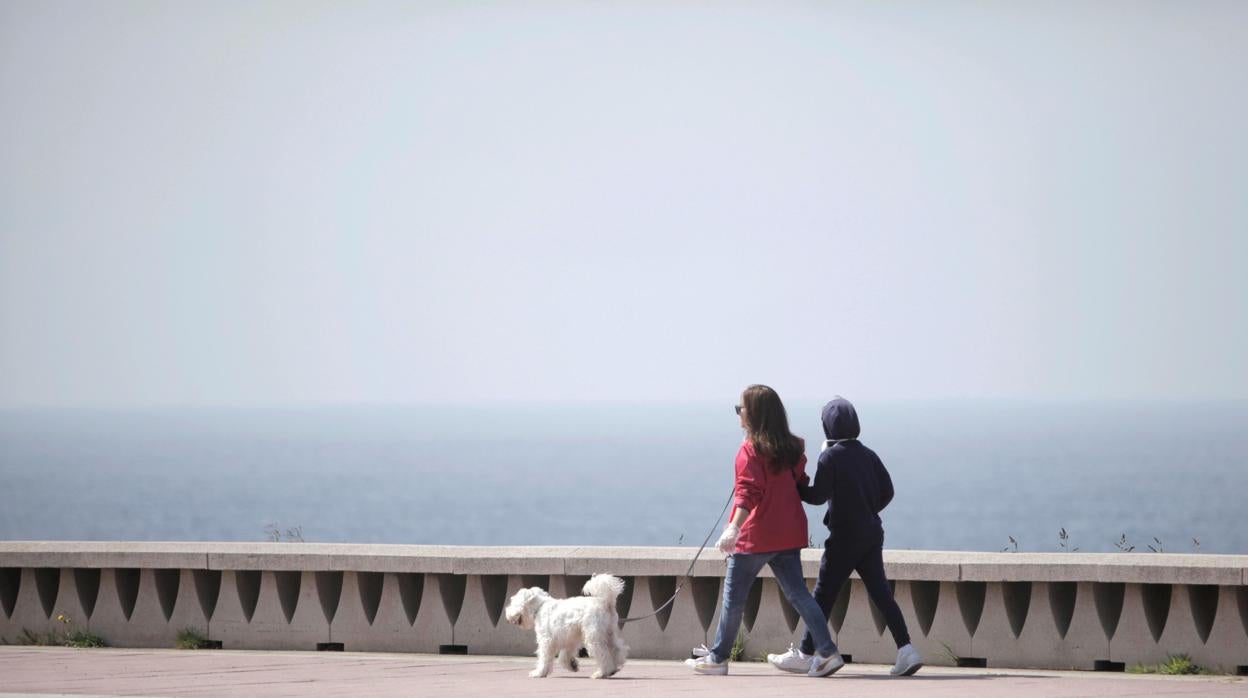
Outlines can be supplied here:
[[736, 538], [739, 553], [769, 553], [804, 548], [810, 541], [806, 511], [797, 496], [799, 481], [806, 481], [806, 456], [790, 469], [773, 473], [766, 461], [745, 440], [736, 452], [734, 506], [750, 509]]

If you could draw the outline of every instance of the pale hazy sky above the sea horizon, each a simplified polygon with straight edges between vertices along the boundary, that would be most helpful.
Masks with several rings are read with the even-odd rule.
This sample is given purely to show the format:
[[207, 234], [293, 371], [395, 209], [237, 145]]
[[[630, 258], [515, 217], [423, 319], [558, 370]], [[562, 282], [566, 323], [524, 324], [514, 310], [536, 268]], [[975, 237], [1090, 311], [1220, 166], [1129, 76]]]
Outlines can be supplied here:
[[1246, 35], [0, 0], [0, 405], [1248, 398]]

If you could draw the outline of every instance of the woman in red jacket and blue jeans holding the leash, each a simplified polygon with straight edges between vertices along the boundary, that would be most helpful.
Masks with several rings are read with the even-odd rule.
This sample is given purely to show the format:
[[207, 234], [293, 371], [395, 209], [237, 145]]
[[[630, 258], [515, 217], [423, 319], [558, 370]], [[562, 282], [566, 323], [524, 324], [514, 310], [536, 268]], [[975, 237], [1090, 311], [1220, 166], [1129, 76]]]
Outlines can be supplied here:
[[816, 654], [809, 676], [831, 674], [845, 662], [801, 576], [801, 548], [806, 544], [807, 531], [796, 482], [805, 478], [805, 443], [789, 432], [784, 403], [768, 386], [745, 388], [736, 413], [741, 417], [745, 442], [736, 452], [735, 508], [718, 543], [729, 556], [724, 606], [715, 646], [705, 657], [685, 663], [700, 674], [728, 673], [728, 658], [741, 626], [745, 598], [766, 564], [814, 637]]

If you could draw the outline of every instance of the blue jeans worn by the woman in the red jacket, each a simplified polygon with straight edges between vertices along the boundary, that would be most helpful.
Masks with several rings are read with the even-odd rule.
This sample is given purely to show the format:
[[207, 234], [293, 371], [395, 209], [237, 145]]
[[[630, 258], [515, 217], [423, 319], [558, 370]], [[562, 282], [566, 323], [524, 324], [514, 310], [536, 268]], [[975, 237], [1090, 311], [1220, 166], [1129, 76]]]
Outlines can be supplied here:
[[801, 576], [801, 551], [792, 549], [729, 556], [728, 574], [724, 577], [724, 607], [720, 608], [719, 629], [715, 631], [715, 646], [710, 648], [710, 659], [719, 663], [731, 656], [736, 631], [741, 627], [741, 616], [745, 614], [745, 598], [750, 596], [754, 578], [763, 571], [764, 564], [771, 567], [771, 573], [780, 583], [780, 591], [801, 614], [819, 653], [824, 657], [835, 653], [832, 633], [827, 632], [827, 617], [819, 608], [815, 597], [810, 596], [806, 581]]

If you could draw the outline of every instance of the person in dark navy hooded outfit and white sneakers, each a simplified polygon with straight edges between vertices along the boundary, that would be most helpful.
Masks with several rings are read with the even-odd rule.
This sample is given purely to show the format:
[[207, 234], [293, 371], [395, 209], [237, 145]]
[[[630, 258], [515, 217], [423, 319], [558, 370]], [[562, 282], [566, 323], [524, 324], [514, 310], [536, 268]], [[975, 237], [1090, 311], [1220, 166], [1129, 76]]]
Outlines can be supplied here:
[[[866, 593], [889, 623], [892, 639], [897, 643], [897, 663], [892, 676], [911, 676], [922, 664], [922, 657], [910, 644], [906, 621], [892, 598], [892, 589], [884, 574], [884, 526], [880, 512], [892, 501], [892, 479], [880, 457], [857, 440], [860, 427], [857, 412], [850, 401], [837, 396], [824, 406], [824, 451], [819, 455], [819, 467], [814, 482], [799, 482], [797, 492], [807, 504], [827, 502], [824, 524], [829, 536], [824, 542], [824, 558], [819, 563], [819, 582], [815, 583], [815, 601], [831, 613], [832, 603], [841, 584], [857, 571], [866, 586]], [[778, 669], [805, 673], [815, 648], [810, 633], [800, 648], [790, 647], [784, 654], [768, 654], [768, 661]]]

